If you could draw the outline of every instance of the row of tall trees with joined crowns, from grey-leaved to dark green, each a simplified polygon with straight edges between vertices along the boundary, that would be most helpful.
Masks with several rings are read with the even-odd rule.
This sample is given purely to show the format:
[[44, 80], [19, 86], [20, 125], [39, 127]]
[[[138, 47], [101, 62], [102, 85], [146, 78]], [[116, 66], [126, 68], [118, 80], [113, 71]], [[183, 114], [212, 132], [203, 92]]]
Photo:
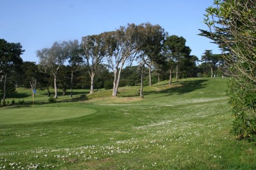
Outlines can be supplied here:
[[[160, 25], [143, 23], [139, 25], [127, 24], [115, 31], [103, 32], [99, 35], [82, 37], [81, 44], [78, 41], [55, 42], [51, 48], [37, 51], [39, 66], [46, 73], [54, 77], [55, 98], [57, 93], [57, 74], [60, 67], [68, 60], [72, 73], [79, 69], [79, 65], [85, 65], [91, 77], [91, 90], [93, 93], [94, 77], [100, 64], [106, 64], [113, 72], [113, 96], [117, 96], [121, 73], [125, 66], [130, 66], [136, 61], [139, 64], [141, 74], [141, 94], [143, 88], [143, 70], [148, 66], [149, 86], [151, 86], [151, 67], [154, 65], [161, 69], [167, 61], [172, 75], [173, 67], [176, 67], [178, 81], [178, 68], [183, 63], [195, 65], [198, 60], [190, 56], [190, 48], [183, 37], [168, 36]], [[71, 81], [73, 76], [71, 75]], [[170, 76], [170, 84], [171, 79]]]

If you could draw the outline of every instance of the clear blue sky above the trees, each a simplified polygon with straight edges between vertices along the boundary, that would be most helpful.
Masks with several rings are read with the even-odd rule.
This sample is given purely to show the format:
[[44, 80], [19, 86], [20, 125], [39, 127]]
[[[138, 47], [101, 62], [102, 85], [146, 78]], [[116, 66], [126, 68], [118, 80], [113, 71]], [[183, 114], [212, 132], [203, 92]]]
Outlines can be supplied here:
[[79, 41], [83, 36], [112, 31], [127, 23], [161, 25], [169, 35], [182, 36], [201, 57], [205, 49], [219, 53], [210, 40], [197, 36], [203, 23], [206, 0], [1, 0], [0, 38], [21, 43], [24, 61], [38, 63], [36, 50], [54, 41]]

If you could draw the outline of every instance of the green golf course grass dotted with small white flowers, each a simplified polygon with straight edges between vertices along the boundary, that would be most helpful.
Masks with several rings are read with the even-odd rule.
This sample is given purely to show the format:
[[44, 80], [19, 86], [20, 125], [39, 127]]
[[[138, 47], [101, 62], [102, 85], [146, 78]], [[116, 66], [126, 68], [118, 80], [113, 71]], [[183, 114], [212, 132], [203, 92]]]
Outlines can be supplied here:
[[77, 90], [56, 104], [38, 91], [34, 108], [18, 89], [11, 99], [25, 104], [0, 108], [0, 169], [256, 169], [254, 143], [229, 132], [226, 79], [163, 81], [143, 99], [138, 88]]

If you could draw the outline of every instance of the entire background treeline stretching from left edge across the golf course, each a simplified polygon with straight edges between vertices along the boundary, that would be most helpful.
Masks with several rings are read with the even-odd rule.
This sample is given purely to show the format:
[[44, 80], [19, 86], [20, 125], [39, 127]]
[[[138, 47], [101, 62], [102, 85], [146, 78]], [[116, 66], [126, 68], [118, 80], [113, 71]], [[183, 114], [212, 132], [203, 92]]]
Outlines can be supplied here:
[[223, 61], [220, 55], [205, 50], [203, 63], [186, 46], [186, 39], [175, 35], [169, 36], [160, 25], [142, 23], [127, 24], [115, 31], [99, 35], [82, 37], [78, 40], [55, 42], [50, 48], [37, 50], [39, 64], [23, 62], [20, 55], [25, 51], [22, 46], [0, 41], [1, 94], [15, 91], [15, 87], [47, 89], [89, 88], [113, 89], [117, 96], [118, 87], [141, 85], [143, 97], [144, 85], [172, 78], [213, 77], [222, 74]]

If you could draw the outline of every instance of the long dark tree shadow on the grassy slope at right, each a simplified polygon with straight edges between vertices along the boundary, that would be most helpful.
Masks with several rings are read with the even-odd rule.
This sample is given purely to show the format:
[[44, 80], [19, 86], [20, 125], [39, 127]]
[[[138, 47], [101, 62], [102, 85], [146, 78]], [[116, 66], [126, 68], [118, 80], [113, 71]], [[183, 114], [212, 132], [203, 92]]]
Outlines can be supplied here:
[[174, 94], [177, 95], [183, 95], [187, 94], [189, 92], [192, 92], [194, 90], [198, 89], [203, 89], [206, 87], [206, 84], [204, 82], [209, 81], [209, 80], [191, 80], [191, 81], [180, 81], [177, 82], [178, 84], [181, 84], [181, 86], [178, 87], [173, 87], [161, 91], [154, 91], [154, 92], [144, 92], [143, 95], [154, 95], [154, 94], [165, 94], [157, 97], [147, 97], [147, 98], [158, 98], [158, 97], [163, 97], [163, 96], [171, 96]]

